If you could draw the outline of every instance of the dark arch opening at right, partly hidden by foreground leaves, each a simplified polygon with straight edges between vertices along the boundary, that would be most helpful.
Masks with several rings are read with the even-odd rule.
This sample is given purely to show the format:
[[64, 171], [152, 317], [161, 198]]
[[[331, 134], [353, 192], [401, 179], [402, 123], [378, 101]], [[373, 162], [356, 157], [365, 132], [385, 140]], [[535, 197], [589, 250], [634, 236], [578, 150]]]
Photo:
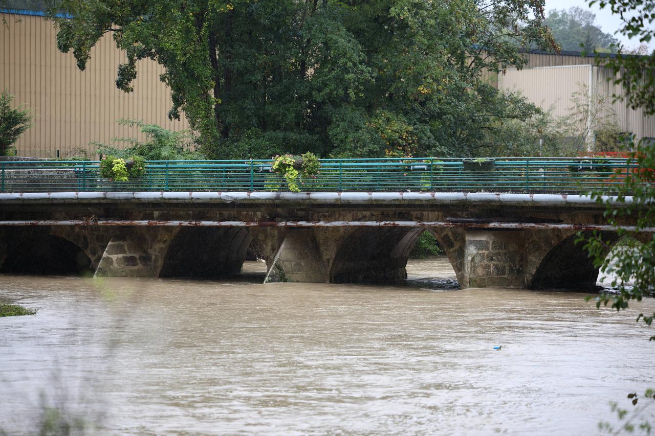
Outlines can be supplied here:
[[[589, 232], [584, 232], [589, 237]], [[614, 232], [601, 232], [603, 239], [616, 242]], [[593, 291], [596, 289], [599, 268], [593, 266], [584, 242], [577, 242], [571, 235], [555, 245], [539, 264], [531, 283], [531, 289], [571, 289]]]

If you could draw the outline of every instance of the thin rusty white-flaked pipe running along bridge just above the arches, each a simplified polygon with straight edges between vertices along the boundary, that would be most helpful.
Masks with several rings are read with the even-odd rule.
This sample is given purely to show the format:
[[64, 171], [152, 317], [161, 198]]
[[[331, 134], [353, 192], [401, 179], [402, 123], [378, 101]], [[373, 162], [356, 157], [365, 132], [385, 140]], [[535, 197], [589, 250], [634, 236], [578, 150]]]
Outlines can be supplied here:
[[498, 229], [557, 229], [557, 230], [626, 230], [654, 233], [655, 227], [612, 226], [603, 224], [524, 223], [524, 222], [458, 222], [458, 221], [208, 221], [208, 220], [12, 220], [0, 221], [1, 226], [127, 226], [127, 227], [458, 227]]

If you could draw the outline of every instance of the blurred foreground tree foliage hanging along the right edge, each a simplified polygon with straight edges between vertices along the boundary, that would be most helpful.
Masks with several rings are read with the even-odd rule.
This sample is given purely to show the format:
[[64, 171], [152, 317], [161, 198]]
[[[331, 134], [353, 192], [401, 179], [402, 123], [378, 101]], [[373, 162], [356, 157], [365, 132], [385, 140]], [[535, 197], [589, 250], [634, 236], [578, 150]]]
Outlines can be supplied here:
[[[589, 5], [598, 3], [601, 8], [610, 7], [614, 14], [617, 14], [623, 22], [618, 30], [629, 38], [637, 38], [639, 43], [649, 43], [655, 34], [652, 26], [655, 20], [655, 1], [653, 0], [590, 0]], [[616, 75], [614, 84], [622, 84], [627, 93], [627, 99], [633, 108], [642, 107], [645, 114], [655, 113], [655, 52], [650, 56], [626, 56], [619, 54], [616, 58], [610, 58], [605, 66], [614, 70]], [[618, 74], [620, 73], [620, 74]], [[597, 307], [601, 304], [616, 310], [623, 310], [629, 306], [631, 300], [641, 300], [645, 295], [655, 293], [655, 144], [641, 141], [639, 144], [632, 143], [637, 150], [633, 153], [631, 161], [637, 164], [637, 168], [624, 174], [617, 174], [618, 181], [623, 181], [618, 187], [616, 202], [622, 207], [617, 208], [610, 200], [605, 200], [601, 192], [592, 193], [593, 198], [601, 204], [607, 203], [605, 217], [608, 223], [616, 226], [619, 236], [633, 236], [643, 242], [636, 247], [622, 247], [614, 253], [614, 259], [607, 258], [607, 249], [610, 242], [605, 240], [601, 234], [594, 234], [586, 240], [586, 249], [593, 259], [595, 266], [600, 267], [601, 272], [606, 275], [614, 274], [618, 279], [612, 282], [618, 289], [618, 294], [601, 294], [596, 298]], [[627, 201], [627, 197], [631, 201]], [[626, 231], [620, 228], [626, 221], [636, 222], [635, 230]], [[632, 282], [632, 285], [628, 283]], [[643, 321], [651, 325], [655, 313], [639, 314], [637, 322]], [[655, 335], [650, 336], [655, 340]], [[639, 396], [637, 393], [630, 393], [627, 397], [633, 405], [637, 405]], [[655, 401], [654, 391], [646, 390], [641, 395], [645, 401]], [[649, 403], [646, 403], [648, 405]], [[635, 426], [631, 424], [646, 405], [635, 409], [626, 423], [616, 431], [618, 434], [623, 429], [633, 431]], [[616, 412], [619, 418], [624, 418], [627, 410], [618, 408], [614, 403], [612, 411]], [[650, 433], [650, 424], [645, 422], [640, 428]]]

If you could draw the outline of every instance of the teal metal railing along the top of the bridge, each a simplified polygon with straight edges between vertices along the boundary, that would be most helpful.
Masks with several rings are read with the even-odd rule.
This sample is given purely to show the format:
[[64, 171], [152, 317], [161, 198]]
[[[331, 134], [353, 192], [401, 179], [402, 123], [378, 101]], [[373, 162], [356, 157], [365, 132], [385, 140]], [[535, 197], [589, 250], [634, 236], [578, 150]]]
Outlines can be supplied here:
[[[145, 175], [127, 182], [103, 179], [99, 164], [0, 162], [0, 191], [288, 191], [272, 160], [149, 161]], [[461, 158], [322, 159], [301, 190], [614, 192], [636, 168], [625, 158], [496, 158], [477, 170]]]

